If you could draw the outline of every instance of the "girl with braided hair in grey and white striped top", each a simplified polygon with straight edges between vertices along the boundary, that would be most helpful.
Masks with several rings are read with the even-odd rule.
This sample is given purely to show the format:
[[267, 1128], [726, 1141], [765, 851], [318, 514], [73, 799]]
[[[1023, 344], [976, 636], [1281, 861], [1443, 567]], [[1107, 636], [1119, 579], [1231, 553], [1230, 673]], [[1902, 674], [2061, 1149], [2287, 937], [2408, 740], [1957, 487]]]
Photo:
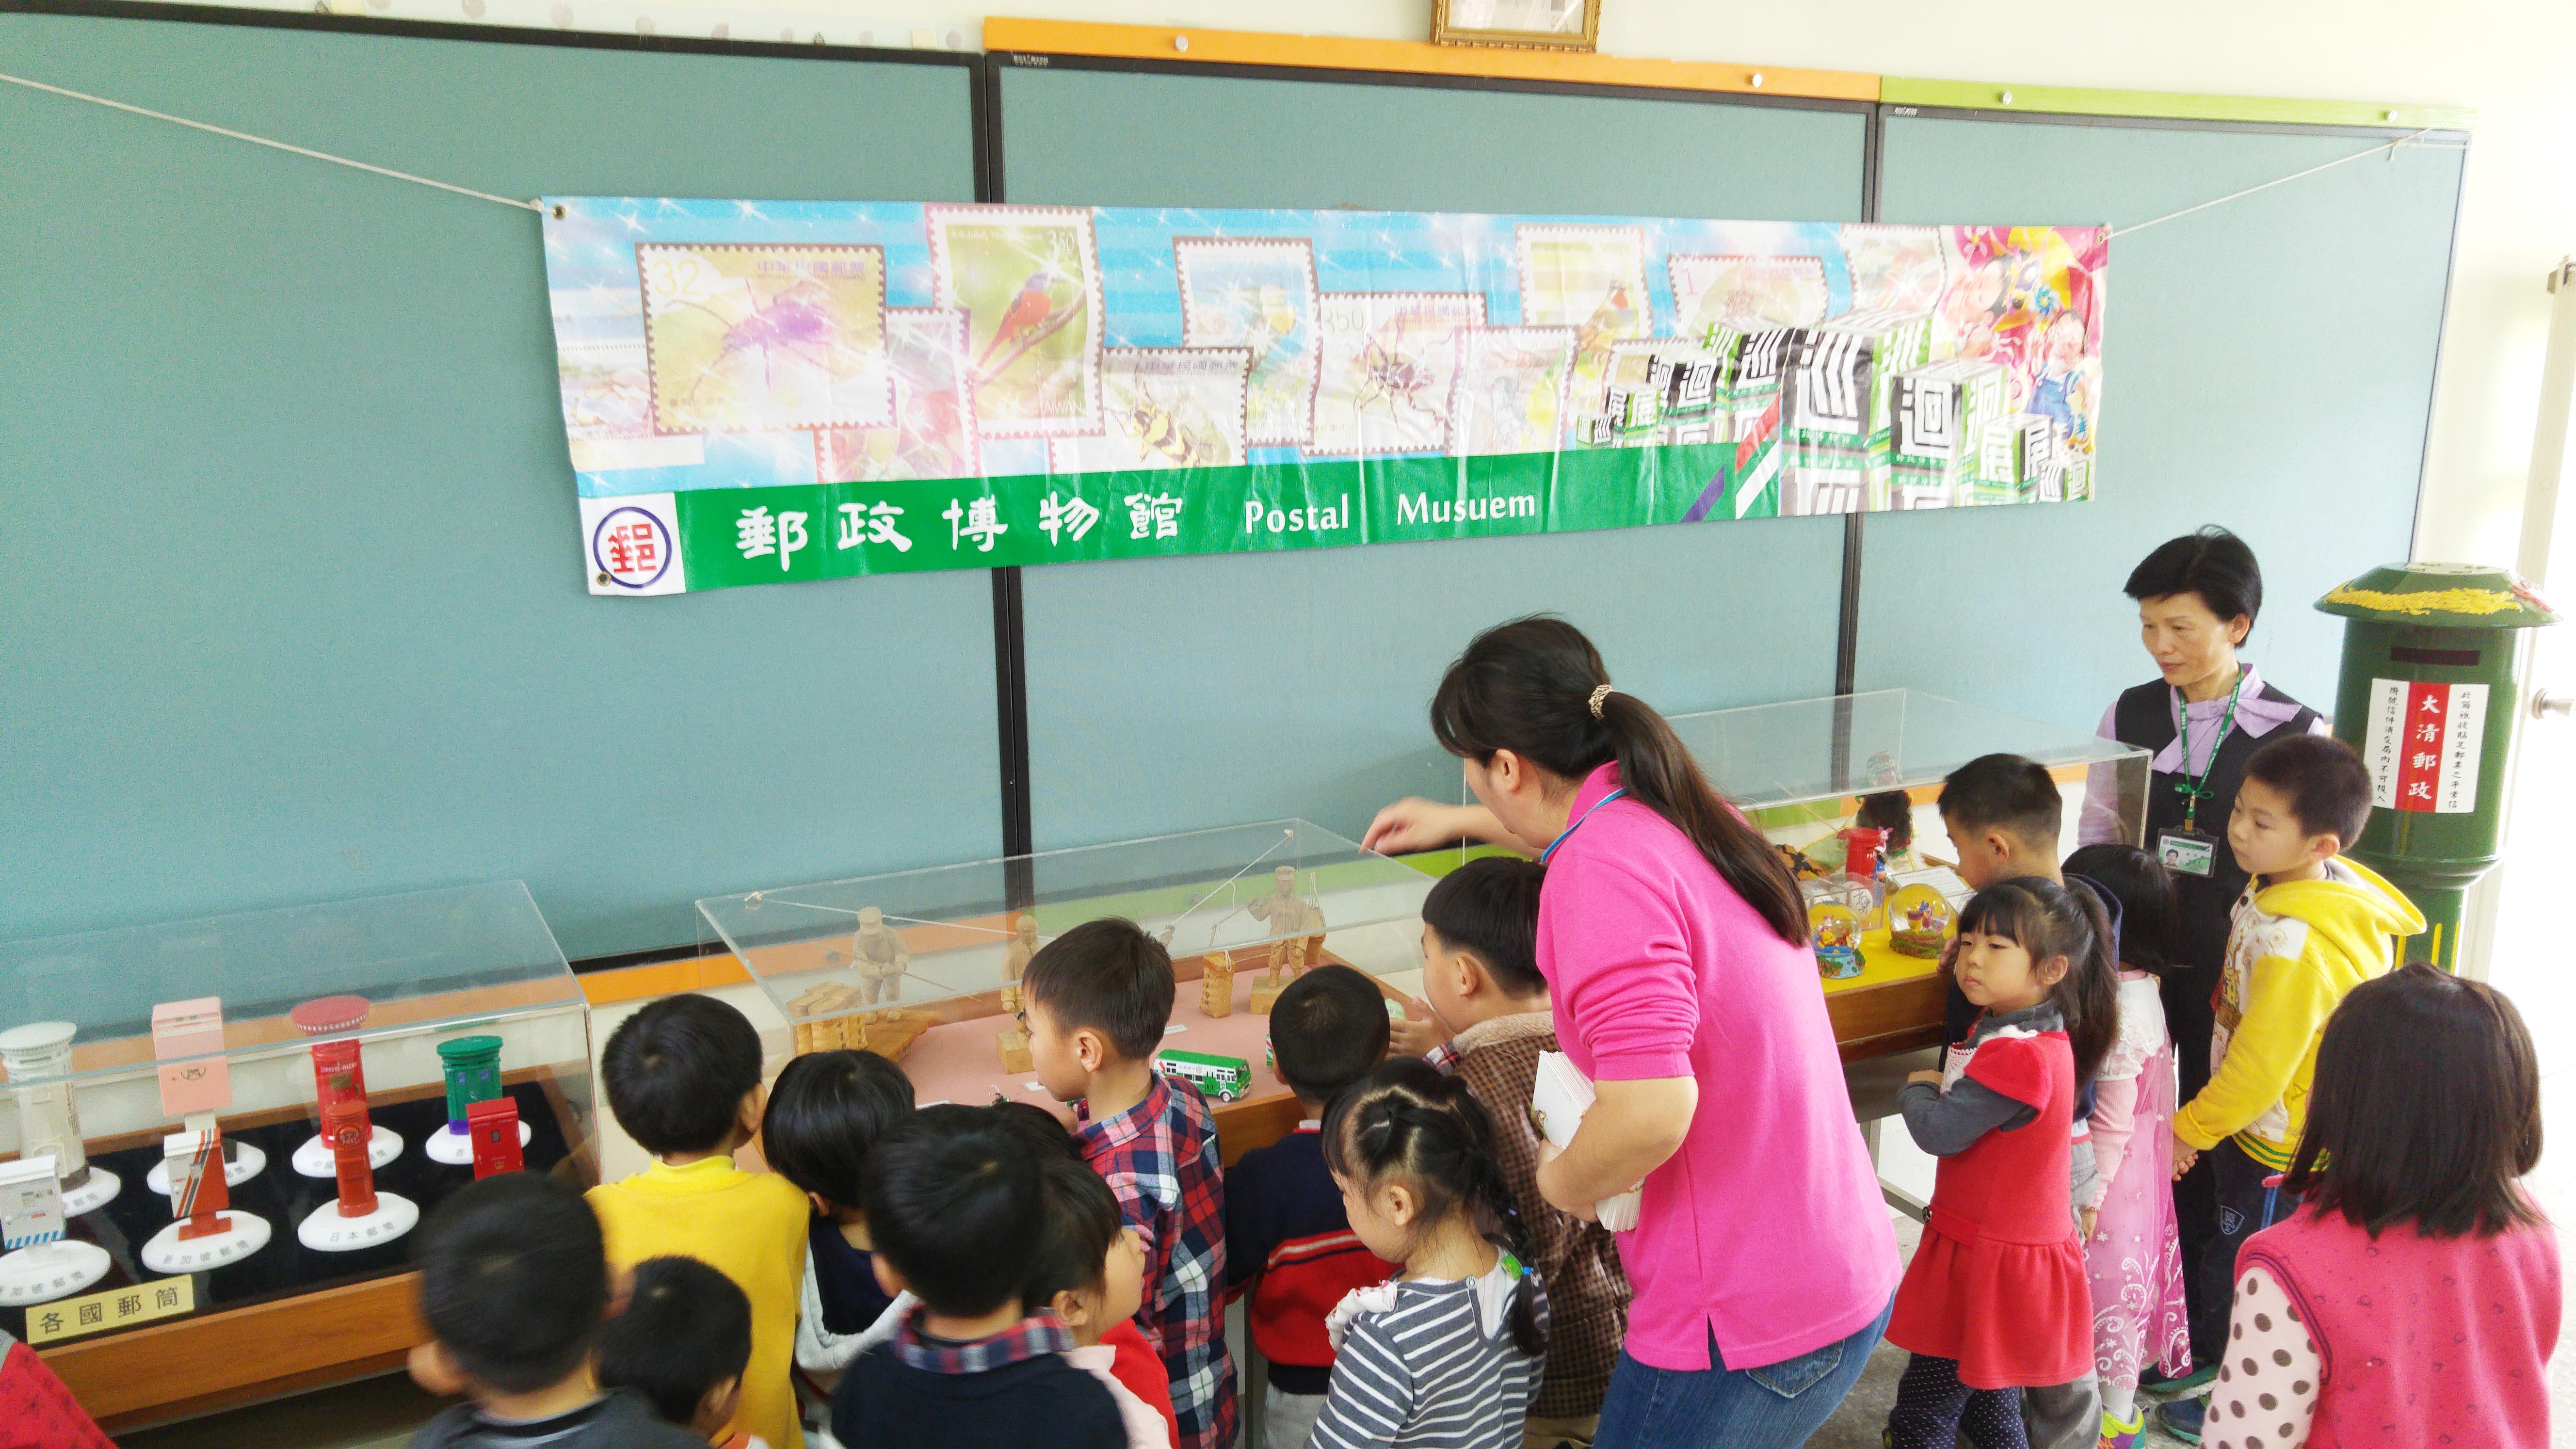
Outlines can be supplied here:
[[1517, 1449], [1548, 1354], [1548, 1299], [1466, 1083], [1414, 1057], [1334, 1098], [1324, 1163], [1350, 1230], [1401, 1263], [1324, 1320], [1332, 1390], [1314, 1449]]

